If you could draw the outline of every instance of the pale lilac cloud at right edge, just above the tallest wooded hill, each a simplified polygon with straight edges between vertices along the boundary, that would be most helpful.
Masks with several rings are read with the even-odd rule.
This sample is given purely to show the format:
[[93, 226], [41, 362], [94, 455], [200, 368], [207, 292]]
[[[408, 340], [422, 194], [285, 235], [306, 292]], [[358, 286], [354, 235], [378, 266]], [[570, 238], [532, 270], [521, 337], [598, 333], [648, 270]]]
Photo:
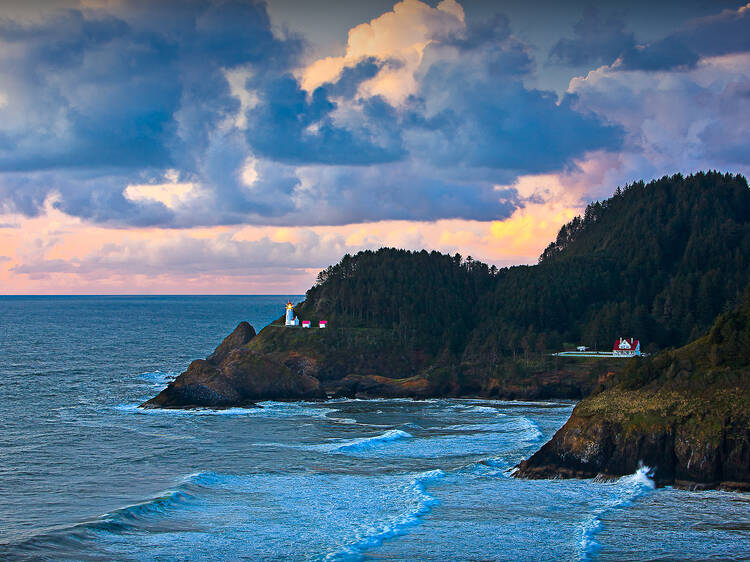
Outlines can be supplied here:
[[622, 156], [640, 160], [633, 177], [748, 170], [750, 54], [702, 59], [680, 73], [602, 67], [570, 90], [627, 131]]

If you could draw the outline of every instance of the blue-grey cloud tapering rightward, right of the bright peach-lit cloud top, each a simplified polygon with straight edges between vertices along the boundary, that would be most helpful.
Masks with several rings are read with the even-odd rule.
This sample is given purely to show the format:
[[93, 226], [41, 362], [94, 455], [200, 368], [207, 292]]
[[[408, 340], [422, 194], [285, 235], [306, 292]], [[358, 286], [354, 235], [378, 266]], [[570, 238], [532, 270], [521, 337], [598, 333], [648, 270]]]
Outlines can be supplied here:
[[[540, 173], [560, 169], [588, 150], [617, 149], [622, 132], [558, 101], [552, 92], [523, 83], [533, 66], [526, 46], [510, 35], [504, 18], [470, 27], [460, 55], [432, 58], [420, 80], [421, 106], [412, 115], [409, 146], [436, 166]], [[429, 100], [441, 99], [428, 115]]]

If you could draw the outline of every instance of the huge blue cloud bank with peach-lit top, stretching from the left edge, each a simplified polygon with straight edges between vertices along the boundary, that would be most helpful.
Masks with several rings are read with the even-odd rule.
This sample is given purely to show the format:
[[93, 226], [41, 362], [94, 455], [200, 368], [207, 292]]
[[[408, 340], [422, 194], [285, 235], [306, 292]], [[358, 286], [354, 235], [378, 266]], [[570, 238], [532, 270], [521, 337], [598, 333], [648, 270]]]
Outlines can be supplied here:
[[404, 0], [301, 67], [261, 3], [123, 0], [0, 24], [0, 207], [189, 228], [490, 220], [621, 131], [526, 87], [507, 18]]

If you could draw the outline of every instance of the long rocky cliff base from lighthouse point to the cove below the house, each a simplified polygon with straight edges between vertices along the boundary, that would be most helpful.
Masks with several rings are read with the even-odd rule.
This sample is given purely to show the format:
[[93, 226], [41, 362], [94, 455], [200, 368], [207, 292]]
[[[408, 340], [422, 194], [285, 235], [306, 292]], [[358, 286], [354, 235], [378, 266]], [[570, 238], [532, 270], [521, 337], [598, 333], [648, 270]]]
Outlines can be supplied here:
[[404, 349], [392, 330], [288, 328], [279, 319], [256, 335], [243, 322], [143, 407], [224, 408], [325, 397], [580, 398], [617, 364], [622, 362], [545, 359], [490, 375], [455, 356], [430, 358]]

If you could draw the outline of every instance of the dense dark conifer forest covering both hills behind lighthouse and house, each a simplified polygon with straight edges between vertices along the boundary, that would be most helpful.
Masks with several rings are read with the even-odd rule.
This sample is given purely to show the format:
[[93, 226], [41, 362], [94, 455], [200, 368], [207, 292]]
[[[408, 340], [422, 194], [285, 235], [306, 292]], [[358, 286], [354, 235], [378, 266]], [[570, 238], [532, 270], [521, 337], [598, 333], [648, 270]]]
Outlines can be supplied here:
[[564, 225], [539, 263], [385, 248], [322, 271], [304, 318], [392, 330], [400, 345], [492, 363], [618, 336], [681, 346], [733, 309], [750, 282], [750, 189], [739, 175], [663, 177], [618, 188]]

